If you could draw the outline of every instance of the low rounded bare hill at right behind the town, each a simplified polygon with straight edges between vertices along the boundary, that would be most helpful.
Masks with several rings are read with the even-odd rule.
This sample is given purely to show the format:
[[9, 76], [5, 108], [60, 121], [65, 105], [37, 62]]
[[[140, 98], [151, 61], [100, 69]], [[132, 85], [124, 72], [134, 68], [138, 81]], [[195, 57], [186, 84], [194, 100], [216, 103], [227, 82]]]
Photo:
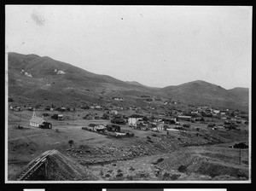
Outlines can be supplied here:
[[240, 108], [244, 111], [248, 107], [248, 94], [246, 96], [243, 92], [240, 94], [232, 90], [225, 90], [221, 86], [201, 80], [168, 86], [162, 91], [174, 99], [195, 105], [206, 104], [222, 108]]

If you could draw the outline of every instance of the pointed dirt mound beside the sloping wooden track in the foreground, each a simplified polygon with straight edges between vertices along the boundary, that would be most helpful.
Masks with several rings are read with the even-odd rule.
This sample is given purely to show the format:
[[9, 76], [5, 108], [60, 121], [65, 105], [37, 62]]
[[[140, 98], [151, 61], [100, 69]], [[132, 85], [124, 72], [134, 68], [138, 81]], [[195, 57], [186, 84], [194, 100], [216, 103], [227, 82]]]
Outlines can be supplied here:
[[56, 150], [48, 156], [46, 176], [50, 181], [94, 181], [98, 179], [86, 171], [83, 165], [79, 165]]

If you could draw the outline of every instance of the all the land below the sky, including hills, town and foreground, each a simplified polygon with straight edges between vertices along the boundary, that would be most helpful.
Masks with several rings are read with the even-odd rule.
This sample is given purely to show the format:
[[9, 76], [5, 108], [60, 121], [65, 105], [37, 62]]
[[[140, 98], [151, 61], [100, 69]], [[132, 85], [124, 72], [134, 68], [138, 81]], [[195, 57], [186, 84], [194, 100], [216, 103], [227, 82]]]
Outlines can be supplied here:
[[15, 52], [6, 83], [9, 181], [249, 179], [247, 88], [148, 87]]

